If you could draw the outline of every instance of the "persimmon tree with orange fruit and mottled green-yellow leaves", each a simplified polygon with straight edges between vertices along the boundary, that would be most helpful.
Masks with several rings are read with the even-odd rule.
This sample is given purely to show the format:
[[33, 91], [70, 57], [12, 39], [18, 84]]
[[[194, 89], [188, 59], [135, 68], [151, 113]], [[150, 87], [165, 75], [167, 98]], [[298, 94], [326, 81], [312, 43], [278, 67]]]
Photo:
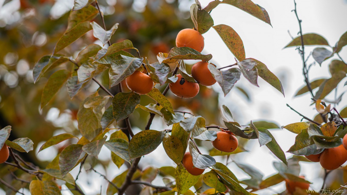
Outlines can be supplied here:
[[[146, 8], [144, 19], [155, 23], [166, 15], [176, 16], [168, 11], [175, 9], [175, 3], [170, 5], [163, 2], [166, 11], [158, 18], [151, 15], [151, 8]], [[303, 34], [295, 3], [293, 11], [300, 31], [299, 36], [293, 37], [286, 48], [295, 47], [303, 62], [305, 86], [296, 95], [310, 93], [312, 105], [318, 114], [310, 119], [287, 104], [307, 122], [293, 121], [293, 124], [282, 126], [282, 129], [298, 134], [288, 151], [294, 155], [286, 159], [285, 152], [269, 130], [280, 128], [277, 124], [251, 119], [248, 124], [239, 124], [226, 105], [208, 111], [222, 118], [222, 122], [210, 119], [209, 113], [200, 116], [200, 108], [192, 108], [192, 100], [201, 98], [202, 91], [213, 91], [206, 86], [218, 83], [226, 96], [231, 90], [237, 89], [234, 85], [241, 77], [257, 87], [260, 77], [284, 96], [280, 80], [261, 62], [262, 59], [246, 58], [243, 41], [237, 32], [228, 25], [214, 24], [210, 13], [220, 4], [230, 5], [231, 10], [241, 9], [271, 26], [268, 12], [250, 0], [215, 0], [206, 7], [196, 0], [190, 7], [191, 22], [187, 25], [167, 24], [176, 25], [175, 29], [164, 26], [169, 28], [168, 31], [177, 31], [174, 38], [176, 46], [171, 44], [171, 47], [160, 41], [153, 44], [148, 52], [140, 49], [145, 48], [141, 39], [147, 35], [138, 31], [141, 22], [129, 24], [129, 20], [122, 20], [117, 23], [117, 20], [104, 16], [98, 1], [75, 0], [72, 10], [65, 18], [62, 17], [61, 24], [66, 26], [65, 31], [59, 36], [50, 32], [50, 36], [57, 38], [52, 38], [47, 48], [40, 48], [40, 59], [32, 59], [35, 60], [32, 75], [36, 85], [30, 86], [42, 86], [39, 95], [41, 113], [47, 115], [46, 109], [53, 105], [61, 106], [61, 110], [68, 109], [72, 120], [77, 122], [75, 126], [71, 125], [75, 130], [66, 130], [43, 139], [45, 142], [38, 152], [66, 143], [50, 163], [43, 165], [23, 158], [23, 154], [34, 149], [31, 139], [12, 139], [10, 136], [17, 129], [12, 131], [11, 126], [3, 127], [0, 130], [0, 183], [4, 189], [8, 189], [9, 194], [22, 194], [19, 191], [21, 188], [29, 189], [33, 195], [61, 194], [62, 190], [88, 194], [76, 182], [85, 167], [85, 171], [95, 172], [108, 182], [107, 191], [101, 194], [254, 194], [281, 182], [285, 182], [287, 187], [281, 194], [307, 194], [306, 189], [311, 183], [299, 175], [300, 161], [320, 162], [325, 170], [325, 181], [332, 170], [339, 169], [347, 160], [347, 150], [342, 145], [343, 137], [347, 134], [344, 120], [347, 108], [339, 112], [331, 104], [327, 105], [340, 102], [343, 93], [332, 102], [324, 99], [330, 92], [337, 91], [338, 84], [346, 77], [347, 65], [339, 52], [347, 44], [347, 33], [333, 47], [321, 35]], [[27, 1], [21, 1], [21, 5], [22, 8], [31, 9]], [[117, 6], [115, 9], [127, 12], [129, 5], [125, 3], [120, 5], [119, 10]], [[114, 15], [117, 15], [117, 11]], [[176, 22], [181, 21], [177, 19]], [[186, 22], [184, 20], [182, 23]], [[231, 65], [217, 67], [209, 62], [213, 59], [212, 55], [202, 52], [205, 41], [203, 34], [209, 30], [215, 31], [215, 35], [220, 36], [235, 56]], [[117, 33], [125, 36], [112, 39]], [[142, 33], [142, 36], [136, 38], [132, 33]], [[93, 43], [96, 40], [100, 44]], [[315, 48], [307, 55], [304, 49], [309, 45], [324, 47]], [[148, 56], [143, 53], [148, 53]], [[311, 57], [321, 65], [335, 54], [339, 60], [332, 60], [329, 65], [331, 78], [310, 81], [309, 70], [317, 68], [308, 65]], [[196, 61], [190, 66], [185, 64], [185, 60]], [[98, 89], [91, 85], [97, 85]], [[61, 88], [67, 89], [67, 93]], [[180, 106], [176, 101], [181, 102]], [[68, 102], [76, 106], [61, 105]], [[177, 110], [182, 107], [187, 109]], [[137, 116], [134, 116], [135, 110]], [[154, 117], [161, 118], [167, 128], [152, 128]], [[36, 119], [35, 122], [41, 121]], [[134, 133], [134, 127], [141, 131]], [[273, 166], [278, 173], [263, 178], [262, 173], [252, 166], [234, 161], [251, 179], [239, 180], [234, 175], [227, 167], [228, 159], [233, 154], [244, 152], [243, 144], [248, 139], [257, 139], [260, 146], [265, 145], [277, 157], [278, 161]], [[345, 140], [347, 143], [347, 137]], [[206, 143], [212, 148], [208, 154], [199, 149]], [[161, 144], [166, 153], [161, 155], [167, 155], [176, 166], [142, 169], [139, 166], [142, 157]], [[102, 147], [111, 152], [107, 163], [98, 160]], [[213, 156], [223, 156], [227, 163], [217, 162]], [[106, 167], [108, 163], [127, 169], [109, 179], [94, 168], [99, 164]], [[74, 177], [70, 171], [76, 167], [79, 167], [79, 172]], [[163, 177], [165, 185], [152, 183], [157, 176]], [[324, 183], [322, 189], [327, 187]], [[66, 188], [62, 189], [62, 185]], [[134, 185], [141, 188], [136, 192], [130, 191]], [[341, 186], [338, 193], [344, 193], [346, 188], [345, 185]]]

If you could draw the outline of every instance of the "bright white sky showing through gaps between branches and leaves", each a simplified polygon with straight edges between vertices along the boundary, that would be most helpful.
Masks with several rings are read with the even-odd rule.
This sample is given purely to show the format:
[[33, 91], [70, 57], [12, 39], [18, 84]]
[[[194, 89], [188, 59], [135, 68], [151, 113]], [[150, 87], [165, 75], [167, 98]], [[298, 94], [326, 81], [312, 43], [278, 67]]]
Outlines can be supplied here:
[[[211, 0], [200, 1], [202, 6], [205, 7]], [[187, 8], [189, 8], [193, 2], [194, 1], [187, 3]], [[313, 106], [309, 107], [311, 103], [310, 95], [307, 93], [306, 95], [293, 98], [297, 89], [304, 85], [301, 56], [295, 48], [283, 49], [283, 47], [291, 41], [287, 31], [289, 30], [291, 35], [294, 37], [298, 32], [297, 19], [294, 12], [291, 12], [291, 10], [294, 9], [293, 1], [253, 0], [253, 2], [259, 4], [268, 11], [273, 28], [242, 10], [224, 4], [220, 4], [212, 11], [211, 15], [214, 24], [226, 24], [235, 29], [243, 40], [246, 58], [255, 58], [265, 63], [265, 65], [280, 78], [286, 97], [283, 97], [280, 92], [261, 78], [258, 79], [258, 84], [260, 86], [260, 88], [258, 88], [250, 84], [243, 76], [241, 76], [242, 79], [237, 82], [237, 86], [245, 88], [248, 94], [250, 94], [252, 101], [248, 102], [244, 95], [237, 92], [234, 88], [226, 97], [223, 97], [223, 95], [220, 96], [220, 104], [226, 104], [233, 113], [235, 120], [240, 124], [248, 124], [250, 120], [256, 121], [260, 119], [276, 121], [279, 126], [299, 122], [301, 117], [291, 111], [286, 106], [286, 103], [301, 112], [303, 115], [313, 118], [317, 112], [314, 110]], [[0, 4], [2, 4], [1, 0]], [[347, 31], [346, 1], [298, 0], [297, 9], [299, 18], [303, 20], [303, 33], [318, 33], [325, 37], [330, 45], [335, 45], [339, 37]], [[3, 10], [0, 12], [2, 11]], [[234, 56], [230, 53], [213, 28], [203, 36], [205, 38], [205, 48], [202, 53], [211, 53], [213, 55], [213, 59], [211, 60], [212, 63], [215, 63], [219, 67], [235, 63]], [[305, 47], [306, 56], [314, 48], [315, 46]], [[340, 56], [347, 61], [346, 48], [340, 52]], [[323, 62], [322, 67], [319, 67], [318, 64], [312, 67], [310, 70], [310, 80], [312, 81], [316, 78], [329, 78], [330, 73], [328, 70], [328, 64], [332, 59], [337, 59], [337, 57], [333, 57]], [[312, 61], [313, 59], [311, 57], [309, 63]], [[342, 80], [342, 85], [345, 82], [346, 78]], [[346, 91], [346, 87], [343, 88], [342, 85], [339, 86], [338, 94]], [[215, 84], [213, 88], [216, 91], [221, 91], [218, 84]], [[333, 100], [333, 98], [334, 96], [332, 92], [332, 95], [330, 94], [328, 99]], [[346, 107], [346, 105], [346, 97], [343, 97], [337, 108], [338, 110], [341, 110]], [[155, 118], [151, 129], [159, 130], [164, 128], [166, 128], [166, 125], [162, 125], [162, 120], [160, 118]], [[137, 133], [139, 129], [134, 130], [135, 133]], [[294, 144], [296, 134], [290, 133], [285, 129], [270, 130], [270, 132], [276, 138], [276, 141], [280, 144], [283, 151], [287, 151], [290, 146]], [[209, 143], [206, 142], [206, 144]], [[257, 142], [257, 140], [251, 140], [246, 149], [250, 152], [236, 154], [231, 158], [257, 168], [264, 174], [264, 178], [276, 173], [276, 170], [272, 166], [272, 162], [279, 160], [266, 146], [259, 147], [259, 142]], [[46, 150], [46, 152], [40, 152], [38, 157], [47, 157], [50, 152], [49, 149]], [[205, 153], [207, 153], [207, 151], [205, 151]], [[286, 153], [286, 156], [287, 158], [290, 158], [291, 154]], [[110, 152], [108, 149], [103, 147], [99, 159], [106, 160], [108, 158], [110, 158]], [[225, 163], [225, 159], [216, 157], [216, 160]], [[165, 154], [162, 145], [151, 154], [146, 155], [140, 161], [140, 165], [143, 168], [148, 166], [175, 166], [174, 162], [172, 162]], [[301, 165], [301, 175], [305, 175], [307, 180], [314, 183], [311, 185], [311, 188], [320, 189], [322, 179], [318, 178], [318, 176], [319, 173], [322, 173], [322, 168], [319, 163], [301, 163]], [[230, 163], [228, 167], [240, 180], [248, 178], [248, 176], [233, 163]], [[88, 168], [88, 166], [86, 166], [86, 168]], [[104, 173], [102, 167], [95, 168]], [[75, 168], [71, 171], [71, 174], [76, 176], [78, 169], [79, 167]], [[125, 169], [126, 167], [122, 166], [119, 170], [113, 163], [110, 163], [107, 177], [112, 180]], [[95, 175], [95, 173], [85, 173], [84, 171], [81, 173], [77, 183], [81, 185], [86, 194], [99, 193], [100, 185], [103, 185], [102, 190], [104, 193], [107, 187], [107, 182], [101, 177]], [[155, 179], [153, 183], [163, 185], [163, 182], [159, 177]], [[275, 192], [280, 193], [285, 189], [285, 186], [281, 183], [273, 187], [273, 189]], [[0, 189], [0, 194], [2, 193], [3, 191]], [[273, 192], [269, 190], [260, 190], [256, 193], [260, 195], [273, 194]], [[69, 193], [63, 191], [63, 194]]]

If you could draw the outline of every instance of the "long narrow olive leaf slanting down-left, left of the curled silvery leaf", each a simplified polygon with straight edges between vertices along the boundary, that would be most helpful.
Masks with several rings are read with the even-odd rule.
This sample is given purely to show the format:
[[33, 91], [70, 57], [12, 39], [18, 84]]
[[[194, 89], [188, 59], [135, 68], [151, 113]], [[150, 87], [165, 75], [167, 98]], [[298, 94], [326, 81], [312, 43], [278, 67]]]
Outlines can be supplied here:
[[90, 22], [83, 22], [77, 24], [75, 27], [71, 28], [59, 39], [56, 47], [54, 48], [53, 54], [56, 54], [62, 49], [66, 48], [68, 45], [75, 42], [79, 37], [83, 36], [91, 30], [92, 26], [90, 25]]

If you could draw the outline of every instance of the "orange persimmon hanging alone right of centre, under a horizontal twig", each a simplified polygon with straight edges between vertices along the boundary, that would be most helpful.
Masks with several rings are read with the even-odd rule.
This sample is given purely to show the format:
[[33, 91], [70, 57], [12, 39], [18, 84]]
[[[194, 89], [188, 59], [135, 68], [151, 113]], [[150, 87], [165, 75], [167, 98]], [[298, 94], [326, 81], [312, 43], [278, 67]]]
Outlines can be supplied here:
[[234, 152], [238, 146], [238, 140], [227, 132], [217, 132], [217, 138], [211, 141], [215, 149], [222, 152]]

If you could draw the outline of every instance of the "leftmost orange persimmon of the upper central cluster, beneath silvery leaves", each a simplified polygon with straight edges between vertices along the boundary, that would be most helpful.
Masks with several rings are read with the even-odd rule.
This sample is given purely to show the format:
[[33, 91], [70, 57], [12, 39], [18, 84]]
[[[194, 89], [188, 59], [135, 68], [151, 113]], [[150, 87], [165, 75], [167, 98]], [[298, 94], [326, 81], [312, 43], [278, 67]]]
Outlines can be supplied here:
[[153, 88], [151, 77], [141, 71], [135, 71], [125, 79], [125, 82], [131, 91], [139, 94], [149, 93]]

